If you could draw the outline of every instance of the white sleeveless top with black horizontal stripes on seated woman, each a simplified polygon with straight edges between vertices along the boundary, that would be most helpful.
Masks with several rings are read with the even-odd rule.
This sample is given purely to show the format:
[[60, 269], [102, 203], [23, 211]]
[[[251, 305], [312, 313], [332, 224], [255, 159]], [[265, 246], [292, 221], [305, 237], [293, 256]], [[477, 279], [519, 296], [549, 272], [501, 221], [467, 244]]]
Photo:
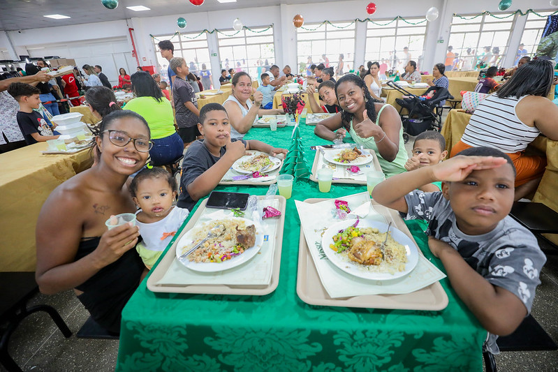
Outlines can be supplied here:
[[499, 98], [492, 94], [485, 98], [469, 119], [462, 142], [473, 147], [492, 147], [508, 154], [526, 149], [541, 132], [524, 124], [515, 113], [515, 106], [525, 97]]

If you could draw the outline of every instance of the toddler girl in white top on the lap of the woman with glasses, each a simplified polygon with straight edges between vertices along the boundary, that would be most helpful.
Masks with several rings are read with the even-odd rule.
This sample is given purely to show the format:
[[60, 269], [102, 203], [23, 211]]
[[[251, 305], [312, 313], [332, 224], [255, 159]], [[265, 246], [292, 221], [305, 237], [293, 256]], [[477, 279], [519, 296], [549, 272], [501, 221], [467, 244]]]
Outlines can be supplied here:
[[140, 208], [136, 218], [143, 241], [137, 244], [136, 250], [147, 269], [151, 269], [189, 211], [172, 205], [177, 185], [163, 168], [145, 168], [138, 172], [130, 184], [130, 193]]

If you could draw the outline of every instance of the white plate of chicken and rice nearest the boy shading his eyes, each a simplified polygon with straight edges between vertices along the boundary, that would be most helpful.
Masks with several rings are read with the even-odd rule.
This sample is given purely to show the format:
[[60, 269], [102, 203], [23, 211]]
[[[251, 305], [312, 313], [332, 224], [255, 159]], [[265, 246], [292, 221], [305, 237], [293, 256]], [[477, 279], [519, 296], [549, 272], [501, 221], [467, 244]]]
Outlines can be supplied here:
[[346, 220], [330, 226], [322, 236], [322, 248], [333, 265], [358, 278], [385, 281], [409, 274], [418, 263], [418, 248], [404, 232], [372, 219]]

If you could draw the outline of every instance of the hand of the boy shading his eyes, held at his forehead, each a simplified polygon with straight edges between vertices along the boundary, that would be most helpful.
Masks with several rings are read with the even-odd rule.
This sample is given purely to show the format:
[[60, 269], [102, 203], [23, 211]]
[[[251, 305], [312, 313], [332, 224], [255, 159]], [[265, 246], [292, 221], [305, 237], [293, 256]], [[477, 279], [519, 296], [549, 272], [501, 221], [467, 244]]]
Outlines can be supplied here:
[[455, 156], [434, 165], [432, 174], [438, 181], [462, 181], [473, 170], [498, 168], [506, 163], [506, 159], [494, 156]]

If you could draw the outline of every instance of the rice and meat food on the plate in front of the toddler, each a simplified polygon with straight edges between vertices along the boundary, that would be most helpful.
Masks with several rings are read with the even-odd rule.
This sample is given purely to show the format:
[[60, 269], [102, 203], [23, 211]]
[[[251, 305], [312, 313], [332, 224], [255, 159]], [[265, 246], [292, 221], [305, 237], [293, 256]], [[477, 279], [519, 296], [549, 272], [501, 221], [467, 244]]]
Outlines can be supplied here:
[[188, 256], [190, 261], [197, 263], [223, 262], [241, 255], [256, 244], [256, 227], [247, 226], [246, 222], [242, 220], [230, 218], [210, 221], [197, 228], [193, 232], [193, 241], [188, 246], [182, 247], [182, 253], [205, 239], [212, 228], [220, 225], [222, 228], [217, 231], [217, 236], [207, 239], [200, 248], [193, 251]]

